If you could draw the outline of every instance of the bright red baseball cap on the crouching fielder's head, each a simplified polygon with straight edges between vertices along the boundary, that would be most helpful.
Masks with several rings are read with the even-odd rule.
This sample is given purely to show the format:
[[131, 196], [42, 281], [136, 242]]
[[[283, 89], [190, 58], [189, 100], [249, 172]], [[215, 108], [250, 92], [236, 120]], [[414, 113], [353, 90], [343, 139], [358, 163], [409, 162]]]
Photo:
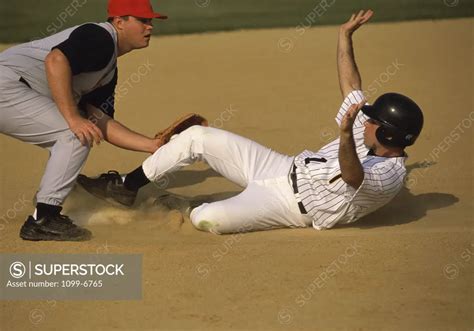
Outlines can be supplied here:
[[108, 17], [130, 15], [141, 18], [168, 18], [168, 16], [155, 13], [150, 0], [109, 0], [107, 14]]

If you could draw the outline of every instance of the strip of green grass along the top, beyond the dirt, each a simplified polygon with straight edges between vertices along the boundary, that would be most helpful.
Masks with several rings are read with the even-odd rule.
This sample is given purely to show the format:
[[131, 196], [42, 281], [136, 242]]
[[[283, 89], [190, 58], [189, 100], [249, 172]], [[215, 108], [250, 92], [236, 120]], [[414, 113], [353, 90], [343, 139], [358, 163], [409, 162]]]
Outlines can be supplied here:
[[[106, 0], [2, 0], [0, 42], [29, 41], [83, 22], [103, 21], [106, 3]], [[326, 0], [330, 5], [327, 10], [322, 9], [321, 0], [152, 0], [152, 3], [155, 10], [170, 17], [157, 22], [155, 33], [158, 34], [339, 24], [360, 8], [375, 10], [375, 22], [474, 16], [474, 0]], [[76, 8], [73, 4], [77, 4]], [[315, 15], [313, 19], [309, 17], [311, 12]]]

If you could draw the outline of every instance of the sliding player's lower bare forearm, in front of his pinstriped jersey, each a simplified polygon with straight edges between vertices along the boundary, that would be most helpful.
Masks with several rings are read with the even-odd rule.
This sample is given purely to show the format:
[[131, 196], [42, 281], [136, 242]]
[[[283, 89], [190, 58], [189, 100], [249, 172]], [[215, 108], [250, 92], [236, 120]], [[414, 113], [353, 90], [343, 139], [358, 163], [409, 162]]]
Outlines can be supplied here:
[[339, 141], [339, 167], [344, 182], [358, 189], [364, 181], [364, 168], [357, 156], [352, 133], [341, 133]]

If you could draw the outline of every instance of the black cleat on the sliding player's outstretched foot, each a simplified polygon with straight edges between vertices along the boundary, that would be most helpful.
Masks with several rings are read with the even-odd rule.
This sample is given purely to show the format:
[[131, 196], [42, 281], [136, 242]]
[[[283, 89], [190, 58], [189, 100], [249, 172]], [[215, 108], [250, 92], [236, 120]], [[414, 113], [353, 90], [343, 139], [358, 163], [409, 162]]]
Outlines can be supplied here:
[[97, 178], [79, 175], [77, 182], [90, 194], [112, 204], [131, 207], [135, 203], [138, 191], [131, 191], [123, 185], [120, 174], [111, 170]]

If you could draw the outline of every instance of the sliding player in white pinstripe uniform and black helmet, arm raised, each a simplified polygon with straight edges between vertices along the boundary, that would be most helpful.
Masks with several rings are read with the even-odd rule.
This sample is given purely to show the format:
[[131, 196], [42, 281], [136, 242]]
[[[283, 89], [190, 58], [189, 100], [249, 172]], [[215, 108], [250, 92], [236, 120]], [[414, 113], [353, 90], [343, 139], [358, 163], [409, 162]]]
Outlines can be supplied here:
[[310, 225], [322, 230], [373, 212], [402, 188], [404, 150], [420, 134], [423, 115], [415, 102], [397, 93], [365, 103], [352, 34], [372, 15], [371, 10], [360, 11], [340, 28], [340, 135], [319, 151], [290, 157], [230, 132], [193, 126], [123, 178], [109, 172], [98, 178], [80, 175], [78, 182], [96, 196], [132, 205], [149, 181], [203, 160], [245, 188], [235, 197], [192, 210], [196, 228], [217, 234]]

